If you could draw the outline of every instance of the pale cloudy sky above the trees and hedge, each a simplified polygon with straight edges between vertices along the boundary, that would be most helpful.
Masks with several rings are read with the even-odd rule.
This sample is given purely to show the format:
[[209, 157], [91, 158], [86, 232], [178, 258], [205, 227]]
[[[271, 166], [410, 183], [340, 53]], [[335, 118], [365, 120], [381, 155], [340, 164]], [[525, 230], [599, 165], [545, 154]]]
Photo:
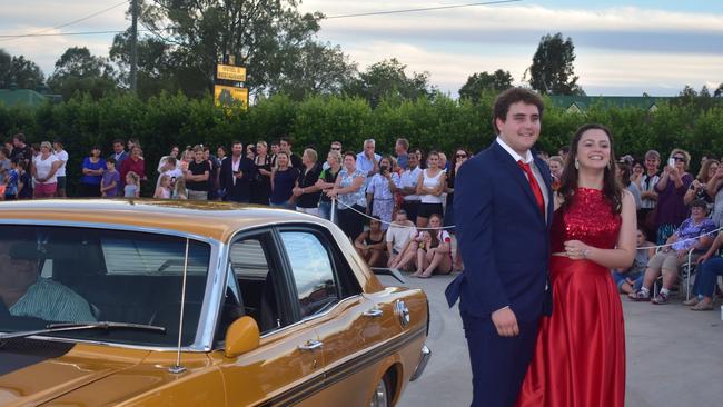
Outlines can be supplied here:
[[[338, 17], [374, 11], [474, 3], [475, 0], [305, 0], [300, 10]], [[0, 0], [0, 36], [37, 32], [111, 8], [47, 32], [122, 30], [120, 0]], [[723, 82], [723, 1], [522, 0], [504, 4], [386, 16], [330, 18], [318, 40], [339, 44], [359, 70], [397, 58], [408, 73], [427, 71], [432, 85], [456, 97], [467, 78], [508, 70], [522, 85], [539, 39], [562, 32], [575, 44], [575, 73], [587, 95], [674, 96], [690, 85]], [[112, 34], [34, 37], [0, 48], [24, 54], [46, 75], [68, 47], [107, 56]]]

